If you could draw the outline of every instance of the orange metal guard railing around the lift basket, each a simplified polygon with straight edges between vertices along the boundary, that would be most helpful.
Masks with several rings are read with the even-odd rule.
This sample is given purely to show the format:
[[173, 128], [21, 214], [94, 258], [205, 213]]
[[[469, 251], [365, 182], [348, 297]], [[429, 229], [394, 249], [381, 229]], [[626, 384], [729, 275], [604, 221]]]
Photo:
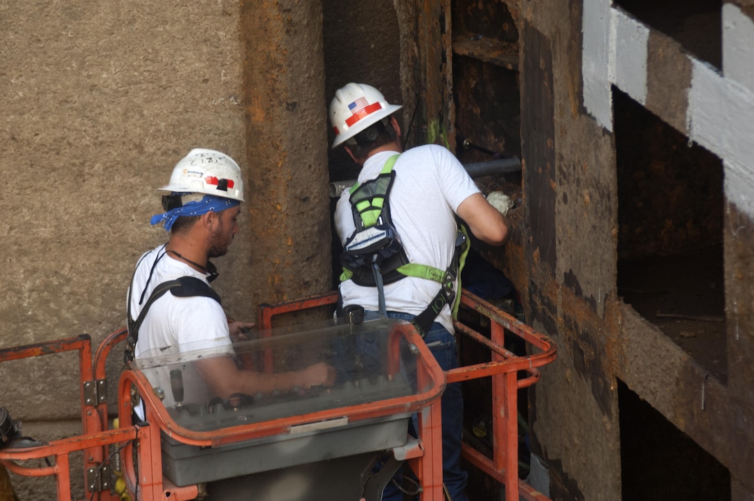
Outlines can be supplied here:
[[[329, 293], [298, 301], [262, 305], [258, 312], [259, 327], [264, 331], [269, 331], [275, 316], [314, 307], [330, 306], [335, 304], [336, 300], [336, 293]], [[503, 484], [506, 492], [517, 491], [525, 499], [535, 501], [547, 499], [518, 478], [517, 392], [540, 379], [541, 374], [538, 369], [556, 358], [556, 347], [544, 335], [467, 291], [463, 292], [461, 303], [490, 321], [490, 338], [486, 338], [461, 322], [455, 324], [459, 334], [467, 336], [490, 350], [492, 353], [490, 362], [462, 366], [443, 374], [415, 329], [409, 324], [404, 324], [397, 335], [404, 336], [425, 355], [424, 359], [429, 362], [422, 377], [439, 381], [435, 385], [436, 391], [411, 402], [407, 400], [404, 402], [406, 398], [397, 398], [345, 408], [345, 411], [354, 420], [385, 416], [396, 411], [417, 412], [419, 440], [396, 451], [400, 454], [397, 459], [408, 461], [409, 466], [417, 475], [423, 488], [422, 501], [440, 501], [443, 499], [440, 437], [440, 393], [444, 388], [443, 381], [452, 383], [492, 377], [492, 405], [493, 408], [499, 410], [493, 413], [492, 419], [492, 457], [486, 457], [470, 445], [464, 444], [464, 458]], [[532, 352], [532, 354], [517, 356], [506, 350], [504, 348], [506, 332], [525, 341], [529, 347], [527, 353]], [[167, 412], [160, 412], [164, 408], [151, 391], [152, 386], [146, 377], [139, 371], [126, 370], [121, 374], [118, 387], [120, 427], [109, 429], [106, 389], [100, 386], [106, 385], [107, 357], [113, 347], [124, 341], [126, 335], [125, 329], [114, 331], [100, 344], [94, 357], [92, 357], [91, 341], [87, 335], [0, 350], [0, 362], [78, 351], [83, 426], [82, 434], [75, 437], [43, 442], [33, 447], [12, 448], [11, 444], [11, 447], [0, 450], [0, 463], [17, 475], [53, 476], [57, 486], [57, 499], [69, 501], [73, 499], [69, 471], [70, 455], [83, 452], [83, 473], [87, 486], [85, 499], [117, 501], [121, 497], [109, 486], [107, 467], [112, 459], [112, 451], [118, 451], [121, 456], [120, 464], [127, 484], [127, 492], [133, 496], [132, 499], [183, 501], [195, 499], [198, 495], [198, 486], [176, 487], [170, 480], [163, 477], [161, 432], [182, 443], [216, 447], [274, 435], [298, 423], [327, 420], [340, 417], [344, 413], [344, 408], [339, 408], [333, 411], [318, 411], [304, 417], [288, 417], [265, 423], [233, 426], [213, 432], [197, 432], [182, 428], [170, 418]], [[427, 356], [428, 354], [430, 356]], [[95, 391], [92, 391], [93, 388]], [[132, 396], [134, 393], [146, 402], [144, 422], [133, 422]], [[415, 402], [425, 402], [426, 405], [422, 407]], [[23, 464], [32, 460], [35, 461], [35, 466]], [[48, 462], [48, 466], [36, 466], [39, 460]], [[138, 465], [138, 475], [134, 463]]]

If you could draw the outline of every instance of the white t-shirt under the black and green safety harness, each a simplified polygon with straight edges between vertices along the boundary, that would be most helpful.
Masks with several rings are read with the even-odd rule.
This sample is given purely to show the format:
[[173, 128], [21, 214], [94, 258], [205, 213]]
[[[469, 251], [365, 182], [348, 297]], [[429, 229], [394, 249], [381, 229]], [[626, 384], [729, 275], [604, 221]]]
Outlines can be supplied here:
[[[379, 176], [385, 162], [396, 153], [381, 151], [369, 157], [359, 173], [359, 183]], [[446, 270], [455, 252], [455, 211], [461, 202], [479, 193], [479, 188], [458, 159], [439, 145], [403, 152], [393, 170], [396, 176], [388, 197], [391, 218], [409, 261]], [[336, 206], [335, 225], [341, 243], [356, 228], [350, 196], [348, 190], [344, 191]], [[409, 276], [385, 286], [385, 307], [418, 315], [439, 290], [437, 282]], [[340, 291], [344, 306], [359, 304], [366, 310], [379, 310], [376, 287], [357, 286], [347, 280], [341, 283]], [[436, 321], [453, 332], [449, 305], [443, 307]]]

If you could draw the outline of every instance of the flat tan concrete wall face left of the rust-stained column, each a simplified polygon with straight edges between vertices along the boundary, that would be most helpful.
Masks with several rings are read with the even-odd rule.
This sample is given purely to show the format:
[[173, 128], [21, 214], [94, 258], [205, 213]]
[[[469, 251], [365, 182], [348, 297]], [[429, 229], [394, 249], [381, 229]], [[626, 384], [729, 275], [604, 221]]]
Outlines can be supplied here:
[[[155, 188], [173, 165], [202, 146], [247, 170], [238, 5], [27, 2], [0, 12], [0, 169], [13, 180], [0, 200], [8, 214], [0, 342], [87, 333], [97, 344], [124, 325], [136, 259], [167, 240], [149, 217], [161, 212]], [[221, 272], [244, 274], [248, 249], [237, 243]], [[228, 285], [218, 282], [229, 310], [246, 313], [249, 292], [230, 295]], [[48, 374], [53, 395], [74, 383], [74, 371], [54, 364]], [[19, 418], [77, 412], [76, 400], [27, 399], [28, 385], [4, 396]]]

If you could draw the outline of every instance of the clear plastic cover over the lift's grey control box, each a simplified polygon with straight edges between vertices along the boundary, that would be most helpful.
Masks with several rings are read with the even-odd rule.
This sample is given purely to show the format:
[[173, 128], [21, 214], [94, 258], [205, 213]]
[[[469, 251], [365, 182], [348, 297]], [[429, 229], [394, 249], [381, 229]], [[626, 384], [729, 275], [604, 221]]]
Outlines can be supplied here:
[[[167, 411], [185, 429], [262, 423], [427, 392], [430, 388], [417, 387], [421, 354], [397, 325], [406, 323], [375, 316], [358, 324], [332, 320], [255, 330], [247, 340], [216, 340], [202, 350], [155, 350], [132, 367], [163, 398], [158, 412]], [[233, 363], [241, 370], [236, 377], [248, 378], [256, 388], [219, 394], [205, 377], [218, 363]], [[323, 371], [327, 380], [319, 382]]]

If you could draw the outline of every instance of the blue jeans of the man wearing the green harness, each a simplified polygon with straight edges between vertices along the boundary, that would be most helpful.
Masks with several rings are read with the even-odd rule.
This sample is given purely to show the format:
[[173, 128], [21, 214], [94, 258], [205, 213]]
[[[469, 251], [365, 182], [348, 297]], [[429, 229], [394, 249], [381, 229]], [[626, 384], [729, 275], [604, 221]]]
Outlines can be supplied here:
[[[409, 322], [414, 318], [409, 313], [394, 311], [388, 311], [388, 316]], [[455, 337], [442, 324], [434, 322], [425, 335], [424, 341], [443, 371], [458, 367]], [[468, 501], [464, 493], [468, 473], [461, 469], [461, 435], [464, 429], [464, 398], [461, 393], [461, 383], [446, 386], [440, 399], [440, 407], [443, 420], [443, 484], [452, 501]], [[417, 419], [416, 416], [412, 419], [414, 429]], [[402, 480], [400, 471], [394, 479], [400, 484]], [[383, 501], [403, 501], [403, 493], [391, 482], [385, 487], [382, 499]]]

